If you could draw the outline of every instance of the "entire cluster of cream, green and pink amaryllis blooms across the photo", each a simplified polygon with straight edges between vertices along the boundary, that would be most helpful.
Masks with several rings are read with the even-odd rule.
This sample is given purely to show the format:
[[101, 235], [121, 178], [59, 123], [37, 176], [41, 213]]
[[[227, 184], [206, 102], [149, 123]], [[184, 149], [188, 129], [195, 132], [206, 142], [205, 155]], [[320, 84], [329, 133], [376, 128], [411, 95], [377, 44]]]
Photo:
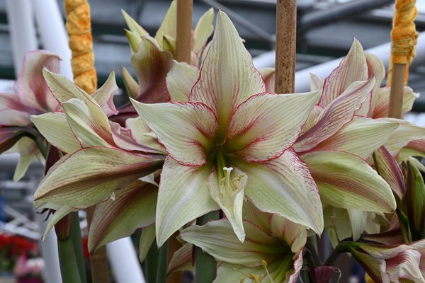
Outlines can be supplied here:
[[[94, 206], [90, 251], [142, 228], [143, 259], [179, 232], [170, 272], [191, 267], [194, 245], [218, 262], [215, 282], [296, 282], [303, 265], [332, 270], [304, 260], [315, 253], [307, 236], [326, 229], [336, 254], [325, 265], [350, 252], [377, 282], [424, 282], [425, 187], [412, 156], [425, 156], [425, 129], [386, 117], [382, 62], [354, 40], [310, 92], [276, 93], [273, 69], [254, 68], [225, 13], [205, 46], [212, 15], [186, 64], [173, 60], [176, 2], [155, 37], [124, 13], [137, 81], [123, 69], [131, 102], [120, 108], [113, 73], [90, 96], [37, 58], [17, 86], [43, 91], [16, 87], [28, 105], [0, 96], [0, 148], [27, 138], [61, 151], [35, 192], [35, 207], [56, 209], [47, 231]], [[403, 112], [416, 97], [404, 88]]]

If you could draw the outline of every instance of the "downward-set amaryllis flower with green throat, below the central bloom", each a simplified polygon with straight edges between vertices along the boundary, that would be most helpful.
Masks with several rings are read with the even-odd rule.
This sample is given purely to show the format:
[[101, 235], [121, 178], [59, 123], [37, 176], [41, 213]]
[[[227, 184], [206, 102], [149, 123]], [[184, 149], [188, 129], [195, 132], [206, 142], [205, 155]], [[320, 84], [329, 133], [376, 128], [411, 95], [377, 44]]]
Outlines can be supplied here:
[[188, 227], [181, 232], [181, 238], [217, 260], [215, 283], [243, 279], [297, 282], [307, 241], [305, 227], [277, 214], [259, 212], [249, 202], [244, 206], [244, 226], [244, 243], [238, 241], [227, 219]]

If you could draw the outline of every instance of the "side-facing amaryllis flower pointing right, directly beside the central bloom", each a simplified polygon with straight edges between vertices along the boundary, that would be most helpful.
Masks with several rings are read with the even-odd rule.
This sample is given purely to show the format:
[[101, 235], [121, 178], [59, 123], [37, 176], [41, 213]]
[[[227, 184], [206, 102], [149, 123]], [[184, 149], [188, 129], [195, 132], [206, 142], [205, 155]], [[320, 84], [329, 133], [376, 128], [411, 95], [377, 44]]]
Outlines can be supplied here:
[[[337, 238], [358, 239], [369, 228], [374, 216], [370, 212], [394, 212], [396, 206], [390, 186], [367, 162], [399, 127], [397, 121], [365, 116], [370, 93], [379, 89], [383, 77], [383, 66], [379, 68], [375, 59], [365, 57], [354, 40], [324, 83], [313, 77], [322, 96], [293, 145], [319, 187], [325, 226], [334, 244]], [[374, 68], [368, 69], [370, 65]]]

